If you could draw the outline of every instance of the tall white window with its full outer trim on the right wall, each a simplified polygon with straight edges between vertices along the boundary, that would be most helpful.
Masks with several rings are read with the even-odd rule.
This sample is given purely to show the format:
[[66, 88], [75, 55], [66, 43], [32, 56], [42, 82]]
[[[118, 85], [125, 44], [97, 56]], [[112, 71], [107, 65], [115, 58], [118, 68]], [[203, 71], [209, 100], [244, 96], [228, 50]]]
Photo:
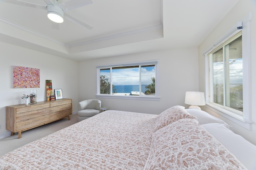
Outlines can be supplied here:
[[205, 53], [206, 107], [252, 130], [249, 13]]

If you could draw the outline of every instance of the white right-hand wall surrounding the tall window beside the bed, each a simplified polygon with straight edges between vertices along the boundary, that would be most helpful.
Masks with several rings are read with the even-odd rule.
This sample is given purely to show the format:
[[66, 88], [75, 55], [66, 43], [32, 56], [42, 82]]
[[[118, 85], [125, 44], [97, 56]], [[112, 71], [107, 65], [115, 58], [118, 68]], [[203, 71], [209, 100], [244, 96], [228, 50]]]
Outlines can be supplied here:
[[206, 39], [202, 42], [198, 49], [199, 53], [199, 89], [200, 91], [205, 91], [205, 60], [202, 57], [203, 53], [211, 47], [214, 43], [216, 43], [219, 39], [221, 39], [228, 31], [230, 31], [234, 25], [237, 24], [238, 21], [241, 21], [243, 18], [248, 16], [249, 12], [253, 13], [253, 19], [251, 22], [251, 82], [252, 82], [252, 131], [237, 125], [236, 123], [222, 117], [221, 115], [215, 113], [214, 111], [207, 109], [204, 107], [203, 109], [212, 115], [219, 117], [226, 121], [232, 127], [232, 131], [235, 133], [242, 135], [248, 141], [256, 145], [256, 3], [253, 4], [252, 0], [240, 0], [236, 6], [224, 17], [224, 19], [218, 24], [218, 26], [206, 37]]

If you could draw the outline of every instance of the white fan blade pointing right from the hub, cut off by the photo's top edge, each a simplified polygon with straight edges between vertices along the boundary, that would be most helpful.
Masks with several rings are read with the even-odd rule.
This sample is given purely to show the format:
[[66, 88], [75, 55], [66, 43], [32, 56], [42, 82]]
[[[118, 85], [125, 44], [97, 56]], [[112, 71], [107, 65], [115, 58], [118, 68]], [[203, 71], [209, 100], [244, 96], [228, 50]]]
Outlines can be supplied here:
[[64, 2], [58, 4], [60, 8], [64, 11], [73, 10], [75, 8], [79, 8], [81, 6], [86, 6], [92, 4], [92, 0], [70, 0], [68, 2]]

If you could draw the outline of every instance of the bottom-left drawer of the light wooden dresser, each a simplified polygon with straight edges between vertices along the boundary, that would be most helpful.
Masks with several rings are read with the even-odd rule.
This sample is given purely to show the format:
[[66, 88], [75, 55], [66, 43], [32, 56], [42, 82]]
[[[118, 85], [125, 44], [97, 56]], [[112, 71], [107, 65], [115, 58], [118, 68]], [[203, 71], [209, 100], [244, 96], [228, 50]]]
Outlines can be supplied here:
[[42, 115], [28, 119], [26, 121], [19, 121], [16, 123], [16, 131], [23, 129], [31, 129], [32, 127], [37, 127], [39, 125], [44, 125], [45, 122], [50, 121], [50, 115]]

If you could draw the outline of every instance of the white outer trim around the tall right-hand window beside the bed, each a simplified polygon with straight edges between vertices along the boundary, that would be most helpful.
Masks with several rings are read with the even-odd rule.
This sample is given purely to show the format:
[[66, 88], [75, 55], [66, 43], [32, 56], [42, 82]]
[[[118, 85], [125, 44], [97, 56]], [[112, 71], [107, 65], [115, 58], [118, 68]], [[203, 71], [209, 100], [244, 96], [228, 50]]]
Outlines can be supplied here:
[[250, 21], [252, 20], [252, 12], [248, 14], [242, 20], [242, 53], [243, 53], [243, 115], [238, 115], [231, 110], [225, 109], [224, 107], [214, 104], [210, 102], [210, 84], [209, 84], [209, 61], [208, 61], [208, 53], [212, 51], [212, 49], [218, 47], [218, 45], [222, 44], [224, 41], [234, 36], [237, 31], [237, 25], [229, 31], [222, 39], [220, 39], [217, 43], [215, 43], [207, 52], [204, 53], [205, 57], [205, 65], [206, 65], [206, 107], [215, 111], [216, 113], [222, 115], [223, 117], [237, 123], [238, 125], [252, 130], [252, 102], [251, 102], [251, 39], [250, 39]]

